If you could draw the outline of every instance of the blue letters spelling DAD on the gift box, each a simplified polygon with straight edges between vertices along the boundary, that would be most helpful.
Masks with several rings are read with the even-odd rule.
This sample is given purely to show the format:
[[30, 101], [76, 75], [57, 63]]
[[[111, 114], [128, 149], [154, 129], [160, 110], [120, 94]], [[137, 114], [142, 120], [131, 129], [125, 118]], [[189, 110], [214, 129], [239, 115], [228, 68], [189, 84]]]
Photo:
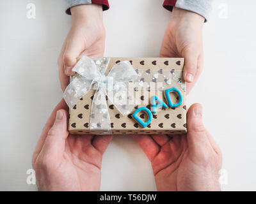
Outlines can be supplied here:
[[[172, 99], [170, 98], [170, 92], [176, 92], [178, 94], [179, 101], [177, 103], [172, 102]], [[175, 108], [182, 104], [182, 94], [179, 91], [179, 89], [177, 89], [175, 87], [164, 90], [164, 98], [166, 99], [170, 108]], [[136, 120], [136, 122], [138, 122], [138, 124], [140, 124], [140, 126], [143, 128], [146, 128], [148, 126], [148, 124], [150, 124], [150, 122], [152, 121], [152, 117], [153, 117], [152, 113], [156, 114], [157, 108], [159, 108], [159, 107], [163, 107], [164, 109], [168, 108], [168, 105], [166, 105], [166, 103], [164, 103], [164, 101], [162, 101], [161, 99], [157, 98], [157, 96], [152, 97], [151, 105], [152, 105], [152, 112], [147, 107], [140, 107], [140, 108], [137, 108], [134, 113], [132, 113], [132, 118], [134, 120]], [[147, 121], [141, 120], [140, 117], [138, 117], [139, 112], [146, 113], [148, 120]]]

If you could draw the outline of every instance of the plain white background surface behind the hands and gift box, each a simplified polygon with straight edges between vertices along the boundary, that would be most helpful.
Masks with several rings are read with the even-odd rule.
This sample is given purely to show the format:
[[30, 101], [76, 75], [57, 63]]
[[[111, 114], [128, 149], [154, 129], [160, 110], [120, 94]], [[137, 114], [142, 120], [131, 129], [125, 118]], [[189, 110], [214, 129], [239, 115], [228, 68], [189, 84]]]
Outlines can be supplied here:
[[[26, 17], [34, 3], [36, 18]], [[157, 57], [170, 11], [163, 1], [109, 0], [106, 56]], [[256, 190], [256, 2], [215, 1], [204, 25], [205, 66], [188, 96], [202, 103], [205, 126], [220, 145], [223, 190]], [[71, 25], [63, 1], [1, 1], [0, 190], [36, 190], [26, 171], [44, 124], [61, 99], [57, 58]], [[101, 190], [155, 191], [147, 157], [116, 136], [102, 161]]]

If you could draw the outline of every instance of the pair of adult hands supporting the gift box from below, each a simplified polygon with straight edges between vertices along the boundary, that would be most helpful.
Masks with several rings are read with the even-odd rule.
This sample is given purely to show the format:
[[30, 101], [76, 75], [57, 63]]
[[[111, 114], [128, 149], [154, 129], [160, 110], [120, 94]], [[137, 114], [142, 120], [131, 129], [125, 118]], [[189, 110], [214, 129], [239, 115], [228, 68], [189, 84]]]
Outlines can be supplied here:
[[[71, 135], [64, 100], [53, 110], [33, 154], [40, 191], [98, 191], [102, 155], [113, 135]], [[132, 135], [152, 164], [159, 191], [218, 191], [221, 153], [202, 124], [202, 106], [187, 113], [186, 135]]]

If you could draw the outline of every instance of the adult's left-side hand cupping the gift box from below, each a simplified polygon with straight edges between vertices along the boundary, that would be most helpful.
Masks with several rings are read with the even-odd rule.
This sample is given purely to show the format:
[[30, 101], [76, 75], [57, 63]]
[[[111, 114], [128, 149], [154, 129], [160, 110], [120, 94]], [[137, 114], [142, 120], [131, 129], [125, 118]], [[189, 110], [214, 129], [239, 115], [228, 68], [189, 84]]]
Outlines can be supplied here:
[[63, 99], [47, 121], [33, 154], [39, 191], [99, 191], [102, 154], [113, 136], [70, 135]]

